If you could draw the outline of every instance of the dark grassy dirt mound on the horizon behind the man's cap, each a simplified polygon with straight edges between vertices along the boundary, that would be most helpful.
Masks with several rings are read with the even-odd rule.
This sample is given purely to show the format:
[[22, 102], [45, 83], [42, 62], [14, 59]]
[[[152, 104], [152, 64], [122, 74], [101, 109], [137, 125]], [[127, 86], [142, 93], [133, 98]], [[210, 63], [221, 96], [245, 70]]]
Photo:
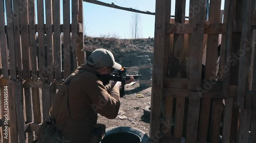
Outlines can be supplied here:
[[136, 57], [148, 55], [153, 64], [154, 38], [147, 39], [116, 39], [102, 37], [84, 37], [87, 57], [97, 48], [110, 50], [116, 62], [124, 67], [136, 66]]

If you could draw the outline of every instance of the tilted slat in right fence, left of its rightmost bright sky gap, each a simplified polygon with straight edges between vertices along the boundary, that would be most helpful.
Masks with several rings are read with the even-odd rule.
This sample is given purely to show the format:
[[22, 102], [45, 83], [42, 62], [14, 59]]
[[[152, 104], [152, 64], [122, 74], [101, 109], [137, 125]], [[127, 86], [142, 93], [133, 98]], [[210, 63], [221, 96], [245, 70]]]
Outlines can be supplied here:
[[[219, 23], [221, 11], [221, 0], [210, 1], [209, 22]], [[205, 75], [206, 80], [216, 80], [216, 63], [218, 56], [218, 39], [219, 35], [208, 35], [207, 49], [206, 49], [206, 62], [205, 62]], [[214, 71], [214, 72], [213, 72]], [[200, 109], [200, 123], [198, 140], [206, 141], [210, 114], [210, 98], [203, 98]]]

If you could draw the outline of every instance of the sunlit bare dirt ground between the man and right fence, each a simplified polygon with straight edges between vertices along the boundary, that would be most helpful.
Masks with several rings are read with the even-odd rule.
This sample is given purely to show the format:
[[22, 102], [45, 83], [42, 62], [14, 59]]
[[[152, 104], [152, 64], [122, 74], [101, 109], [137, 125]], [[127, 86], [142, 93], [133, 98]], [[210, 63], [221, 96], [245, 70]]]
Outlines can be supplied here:
[[[136, 72], [128, 69], [128, 72]], [[107, 119], [98, 115], [98, 123], [105, 124], [106, 128], [128, 126], [142, 130], [147, 135], [150, 132], [150, 119], [143, 116], [143, 109], [151, 105], [151, 87], [140, 88], [139, 81], [134, 85], [125, 85], [125, 95], [121, 97], [121, 105], [118, 116], [115, 119]], [[143, 98], [136, 95], [142, 94]], [[126, 118], [125, 118], [126, 117]], [[124, 119], [121, 119], [124, 118]]]

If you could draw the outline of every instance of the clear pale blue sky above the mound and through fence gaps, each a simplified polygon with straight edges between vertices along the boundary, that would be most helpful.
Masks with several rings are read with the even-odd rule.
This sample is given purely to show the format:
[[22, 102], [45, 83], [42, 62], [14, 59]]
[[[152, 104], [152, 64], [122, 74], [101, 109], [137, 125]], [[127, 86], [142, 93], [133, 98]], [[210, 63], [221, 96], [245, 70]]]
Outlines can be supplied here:
[[[58, 1], [58, 0], [54, 0]], [[134, 8], [141, 11], [155, 12], [156, 0], [100, 0], [104, 3], [114, 3], [117, 6]], [[37, 4], [37, 3], [36, 3]], [[60, 0], [60, 10], [62, 15], [62, 0]], [[186, 16], [188, 16], [189, 1], [186, 1]], [[45, 7], [45, 6], [44, 6]], [[70, 6], [71, 7], [71, 6]], [[222, 7], [224, 8], [224, 0]], [[36, 9], [37, 12], [37, 9]], [[102, 35], [116, 35], [118, 38], [131, 38], [131, 21], [134, 12], [99, 6], [83, 2], [84, 24], [86, 24], [86, 34], [92, 37]], [[171, 15], [175, 14], [175, 0], [172, 0]], [[141, 38], [154, 37], [155, 16], [147, 14], [140, 15]], [[37, 16], [36, 16], [37, 17]], [[63, 23], [61, 17], [61, 23]], [[36, 20], [37, 23], [37, 20]]]

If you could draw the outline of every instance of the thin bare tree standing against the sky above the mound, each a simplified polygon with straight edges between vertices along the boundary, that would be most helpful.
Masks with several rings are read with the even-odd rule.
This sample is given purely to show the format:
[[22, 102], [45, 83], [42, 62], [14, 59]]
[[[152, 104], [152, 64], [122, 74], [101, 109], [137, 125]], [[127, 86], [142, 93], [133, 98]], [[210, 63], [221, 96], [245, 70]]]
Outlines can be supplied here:
[[132, 38], [139, 38], [140, 37], [140, 20], [141, 17], [139, 15], [139, 13], [133, 13], [132, 14], [132, 22], [131, 22], [131, 32], [132, 32]]

